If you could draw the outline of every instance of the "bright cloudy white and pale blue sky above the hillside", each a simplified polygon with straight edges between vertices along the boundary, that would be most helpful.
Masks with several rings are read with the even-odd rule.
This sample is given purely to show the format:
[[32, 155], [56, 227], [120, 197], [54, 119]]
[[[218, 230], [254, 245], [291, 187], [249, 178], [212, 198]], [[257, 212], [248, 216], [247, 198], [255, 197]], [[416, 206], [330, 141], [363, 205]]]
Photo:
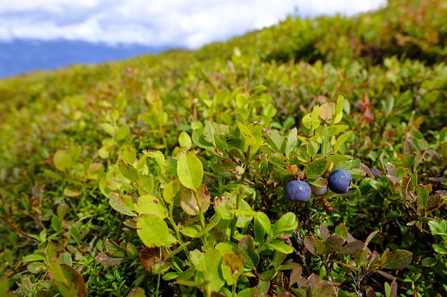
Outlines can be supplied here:
[[82, 40], [195, 49], [287, 15], [356, 15], [386, 0], [0, 0], [0, 41]]

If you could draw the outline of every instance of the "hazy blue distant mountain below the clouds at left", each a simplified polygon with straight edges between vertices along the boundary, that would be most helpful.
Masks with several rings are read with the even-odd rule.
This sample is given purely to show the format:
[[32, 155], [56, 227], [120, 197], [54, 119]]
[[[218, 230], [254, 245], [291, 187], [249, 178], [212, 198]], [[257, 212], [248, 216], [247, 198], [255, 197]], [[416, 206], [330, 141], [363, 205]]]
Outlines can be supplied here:
[[0, 78], [32, 70], [52, 70], [72, 64], [96, 64], [156, 54], [170, 47], [106, 45], [71, 40], [0, 41]]

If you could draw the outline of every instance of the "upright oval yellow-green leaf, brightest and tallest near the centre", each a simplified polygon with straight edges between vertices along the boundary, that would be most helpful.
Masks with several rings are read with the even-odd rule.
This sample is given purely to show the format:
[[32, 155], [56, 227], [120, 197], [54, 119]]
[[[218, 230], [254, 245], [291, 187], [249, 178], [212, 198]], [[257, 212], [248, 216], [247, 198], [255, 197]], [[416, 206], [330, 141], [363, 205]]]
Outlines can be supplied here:
[[202, 183], [202, 162], [191, 152], [180, 153], [177, 160], [177, 174], [184, 187], [195, 190]]

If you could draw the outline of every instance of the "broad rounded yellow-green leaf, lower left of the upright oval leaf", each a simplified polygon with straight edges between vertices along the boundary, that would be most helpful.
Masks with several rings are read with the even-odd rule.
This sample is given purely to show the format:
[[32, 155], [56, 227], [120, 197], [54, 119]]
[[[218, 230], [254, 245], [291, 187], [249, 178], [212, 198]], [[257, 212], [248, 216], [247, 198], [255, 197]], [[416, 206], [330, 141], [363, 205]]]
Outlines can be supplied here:
[[169, 229], [166, 222], [156, 215], [141, 215], [137, 221], [137, 234], [148, 248], [160, 247], [168, 241]]

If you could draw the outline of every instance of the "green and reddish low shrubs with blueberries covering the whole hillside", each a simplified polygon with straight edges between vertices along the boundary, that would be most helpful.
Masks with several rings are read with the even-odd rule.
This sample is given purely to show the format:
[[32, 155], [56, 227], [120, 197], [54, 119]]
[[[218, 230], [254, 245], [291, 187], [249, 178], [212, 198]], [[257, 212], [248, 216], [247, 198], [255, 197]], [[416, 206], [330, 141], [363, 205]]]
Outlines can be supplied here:
[[0, 296], [445, 296], [446, 20], [1, 80]]

